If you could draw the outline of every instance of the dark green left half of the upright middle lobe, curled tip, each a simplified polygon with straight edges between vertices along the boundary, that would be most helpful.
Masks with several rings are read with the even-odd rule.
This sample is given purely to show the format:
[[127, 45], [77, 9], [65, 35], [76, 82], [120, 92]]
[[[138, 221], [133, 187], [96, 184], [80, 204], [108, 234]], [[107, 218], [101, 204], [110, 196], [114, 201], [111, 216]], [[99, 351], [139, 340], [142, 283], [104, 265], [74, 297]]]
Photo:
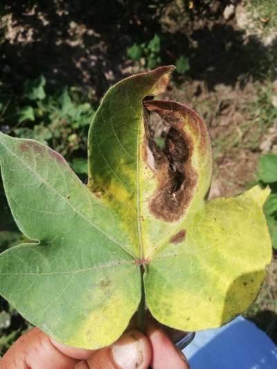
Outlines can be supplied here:
[[138, 258], [143, 258], [141, 186], [152, 176], [142, 168], [143, 98], [163, 92], [173, 69], [161, 67], [115, 84], [89, 130], [89, 186], [118, 213]]

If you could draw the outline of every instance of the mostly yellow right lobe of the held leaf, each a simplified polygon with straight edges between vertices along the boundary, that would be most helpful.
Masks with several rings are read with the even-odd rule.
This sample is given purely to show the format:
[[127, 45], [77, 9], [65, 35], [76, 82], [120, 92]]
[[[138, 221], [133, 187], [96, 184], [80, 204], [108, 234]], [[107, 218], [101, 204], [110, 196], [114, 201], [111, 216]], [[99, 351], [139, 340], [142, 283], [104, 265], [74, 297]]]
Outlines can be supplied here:
[[[154, 255], [145, 273], [148, 307], [161, 323], [180, 330], [218, 327], [256, 298], [271, 260], [258, 186], [243, 195], [207, 201]], [[180, 231], [179, 231], [180, 234]]]

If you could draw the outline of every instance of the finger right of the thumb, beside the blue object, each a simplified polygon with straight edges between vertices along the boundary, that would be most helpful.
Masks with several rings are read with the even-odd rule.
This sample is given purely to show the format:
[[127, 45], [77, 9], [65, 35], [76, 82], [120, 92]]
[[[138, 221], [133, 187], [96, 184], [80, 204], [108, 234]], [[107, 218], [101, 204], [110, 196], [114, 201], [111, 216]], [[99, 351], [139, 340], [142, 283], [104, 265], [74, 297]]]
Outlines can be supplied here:
[[153, 369], [189, 369], [184, 354], [175, 347], [161, 328], [152, 324], [148, 325], [147, 336], [152, 345], [150, 365]]

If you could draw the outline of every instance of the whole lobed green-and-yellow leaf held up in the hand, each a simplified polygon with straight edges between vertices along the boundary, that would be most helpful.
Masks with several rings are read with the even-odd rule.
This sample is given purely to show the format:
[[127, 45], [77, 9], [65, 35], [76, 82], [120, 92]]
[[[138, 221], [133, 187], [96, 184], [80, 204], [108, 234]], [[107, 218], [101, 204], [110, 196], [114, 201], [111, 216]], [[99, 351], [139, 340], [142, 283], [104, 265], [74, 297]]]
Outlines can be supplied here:
[[[251, 304], [265, 278], [269, 190], [205, 200], [212, 156], [204, 120], [151, 98], [173, 69], [107, 91], [89, 129], [88, 186], [57, 152], [0, 133], [8, 202], [33, 240], [0, 255], [0, 293], [62, 343], [109, 345], [139, 305], [143, 315], [144, 295], [170, 327], [217, 327]], [[163, 145], [153, 113], [164, 124]]]

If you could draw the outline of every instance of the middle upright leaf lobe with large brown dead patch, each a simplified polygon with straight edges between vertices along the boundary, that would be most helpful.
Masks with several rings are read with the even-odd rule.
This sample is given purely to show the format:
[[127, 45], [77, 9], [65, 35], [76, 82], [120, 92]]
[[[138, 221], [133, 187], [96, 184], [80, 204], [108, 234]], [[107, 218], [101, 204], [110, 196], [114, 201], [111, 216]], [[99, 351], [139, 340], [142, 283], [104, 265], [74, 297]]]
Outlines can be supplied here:
[[[175, 232], [192, 204], [204, 204], [211, 184], [211, 144], [202, 118], [177, 102], [145, 99], [166, 89], [172, 69], [134, 75], [109, 89], [89, 132], [89, 186], [116, 210], [141, 260]], [[151, 111], [170, 127], [164, 152], [148, 129]]]

